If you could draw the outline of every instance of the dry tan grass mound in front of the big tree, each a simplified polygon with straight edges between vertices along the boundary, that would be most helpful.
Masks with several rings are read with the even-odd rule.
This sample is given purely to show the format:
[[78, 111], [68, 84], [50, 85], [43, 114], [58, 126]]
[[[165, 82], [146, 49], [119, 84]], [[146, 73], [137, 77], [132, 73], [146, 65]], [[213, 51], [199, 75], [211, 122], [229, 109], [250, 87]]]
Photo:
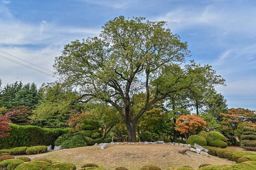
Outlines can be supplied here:
[[181, 166], [198, 168], [200, 164], [205, 163], [214, 165], [235, 163], [216, 156], [203, 156], [190, 151], [186, 154], [179, 154], [178, 151], [184, 148], [167, 144], [126, 144], [110, 145], [104, 150], [98, 150], [97, 146], [86, 146], [26, 156], [31, 159], [47, 158], [53, 162], [72, 162], [77, 168], [84, 163], [95, 163], [106, 170], [114, 170], [118, 166], [124, 166], [129, 170], [138, 170], [146, 164], [154, 164], [162, 170], [166, 170]]

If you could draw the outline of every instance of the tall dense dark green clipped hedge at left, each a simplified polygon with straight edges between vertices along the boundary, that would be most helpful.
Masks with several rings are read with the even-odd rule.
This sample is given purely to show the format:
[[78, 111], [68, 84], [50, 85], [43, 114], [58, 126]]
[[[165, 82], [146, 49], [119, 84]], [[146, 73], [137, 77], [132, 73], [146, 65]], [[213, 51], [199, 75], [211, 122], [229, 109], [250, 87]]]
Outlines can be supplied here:
[[14, 148], [19, 146], [54, 145], [58, 136], [68, 132], [68, 129], [50, 129], [37, 126], [19, 126], [10, 124], [10, 136], [0, 138], [0, 148]]

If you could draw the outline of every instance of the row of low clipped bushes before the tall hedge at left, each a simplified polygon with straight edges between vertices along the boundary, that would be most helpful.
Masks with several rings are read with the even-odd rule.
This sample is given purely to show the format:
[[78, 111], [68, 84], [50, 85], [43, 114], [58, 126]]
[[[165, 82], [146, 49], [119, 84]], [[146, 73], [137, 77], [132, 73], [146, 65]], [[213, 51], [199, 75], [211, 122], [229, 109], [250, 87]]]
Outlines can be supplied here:
[[31, 147], [17, 147], [12, 149], [0, 150], [0, 156], [2, 153], [8, 153], [11, 155], [22, 155], [22, 154], [41, 154], [47, 152], [47, 146], [31, 146]]

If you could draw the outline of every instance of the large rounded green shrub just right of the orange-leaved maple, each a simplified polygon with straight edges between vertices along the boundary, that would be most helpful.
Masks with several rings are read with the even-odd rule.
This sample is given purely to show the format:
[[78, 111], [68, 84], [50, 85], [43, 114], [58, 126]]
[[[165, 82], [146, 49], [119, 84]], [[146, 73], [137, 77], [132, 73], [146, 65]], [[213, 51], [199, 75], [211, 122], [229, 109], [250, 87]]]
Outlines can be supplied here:
[[209, 146], [226, 148], [228, 146], [226, 137], [217, 131], [210, 131], [207, 134], [207, 144]]

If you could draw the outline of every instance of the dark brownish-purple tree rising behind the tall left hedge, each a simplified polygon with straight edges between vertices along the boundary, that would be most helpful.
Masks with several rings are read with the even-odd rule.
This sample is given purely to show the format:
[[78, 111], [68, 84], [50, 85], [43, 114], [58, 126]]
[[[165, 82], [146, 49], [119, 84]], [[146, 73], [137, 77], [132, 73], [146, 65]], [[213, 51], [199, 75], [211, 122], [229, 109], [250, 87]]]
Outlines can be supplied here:
[[32, 110], [28, 106], [12, 107], [10, 111], [18, 111], [16, 114], [10, 117], [12, 123], [16, 125], [30, 125], [30, 116], [33, 115]]

